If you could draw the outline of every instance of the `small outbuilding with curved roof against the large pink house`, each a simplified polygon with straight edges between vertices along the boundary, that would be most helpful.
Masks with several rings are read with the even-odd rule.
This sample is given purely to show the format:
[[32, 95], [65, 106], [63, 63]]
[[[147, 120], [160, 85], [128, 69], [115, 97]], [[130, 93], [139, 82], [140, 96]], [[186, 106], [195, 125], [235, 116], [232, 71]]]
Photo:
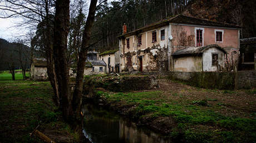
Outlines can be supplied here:
[[217, 72], [224, 67], [227, 52], [219, 45], [190, 47], [176, 50], [172, 55], [176, 72]]

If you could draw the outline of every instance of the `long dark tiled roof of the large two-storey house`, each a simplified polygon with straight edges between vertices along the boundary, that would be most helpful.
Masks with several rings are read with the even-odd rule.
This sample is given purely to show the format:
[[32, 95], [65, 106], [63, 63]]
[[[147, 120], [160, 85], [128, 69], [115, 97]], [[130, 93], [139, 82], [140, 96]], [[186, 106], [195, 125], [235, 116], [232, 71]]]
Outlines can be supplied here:
[[165, 25], [169, 25], [169, 23], [202, 25], [202, 26], [211, 26], [211, 27], [227, 27], [227, 28], [236, 28], [236, 29], [241, 28], [239, 25], [215, 22], [215, 21], [210, 21], [208, 19], [201, 19], [201, 18], [186, 16], [184, 14], [179, 14], [177, 16], [168, 17], [168, 18], [163, 19], [162, 21], [155, 22], [155, 23], [146, 25], [145, 27], [136, 29], [132, 32], [120, 35], [119, 38], [129, 37], [130, 35], [139, 34], [141, 32], [145, 32], [147, 30], [152, 30], [155, 28], [163, 27]]

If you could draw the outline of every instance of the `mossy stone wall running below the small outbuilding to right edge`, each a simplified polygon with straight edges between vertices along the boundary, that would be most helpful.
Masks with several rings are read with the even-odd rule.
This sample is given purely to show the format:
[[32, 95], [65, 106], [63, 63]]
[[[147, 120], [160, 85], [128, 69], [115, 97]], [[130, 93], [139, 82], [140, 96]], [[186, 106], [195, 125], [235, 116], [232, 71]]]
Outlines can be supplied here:
[[170, 72], [169, 79], [206, 89], [252, 89], [256, 71], [239, 72]]

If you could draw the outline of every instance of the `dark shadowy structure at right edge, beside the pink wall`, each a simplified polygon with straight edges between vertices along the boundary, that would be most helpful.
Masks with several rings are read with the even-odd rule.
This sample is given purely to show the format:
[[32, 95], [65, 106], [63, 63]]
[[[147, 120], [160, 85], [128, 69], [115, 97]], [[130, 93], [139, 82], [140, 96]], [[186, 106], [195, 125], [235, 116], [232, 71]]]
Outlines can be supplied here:
[[256, 37], [240, 39], [241, 62], [239, 70], [256, 69]]

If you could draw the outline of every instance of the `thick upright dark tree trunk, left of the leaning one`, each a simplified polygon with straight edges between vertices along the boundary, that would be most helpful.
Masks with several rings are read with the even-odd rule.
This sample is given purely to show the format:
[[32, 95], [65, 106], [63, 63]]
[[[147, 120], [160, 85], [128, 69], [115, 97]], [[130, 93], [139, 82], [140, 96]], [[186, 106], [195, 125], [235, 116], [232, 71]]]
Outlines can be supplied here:
[[72, 125], [73, 111], [67, 63], [67, 35], [70, 25], [70, 1], [57, 0], [54, 24], [53, 57], [60, 95], [60, 108], [65, 121]]

